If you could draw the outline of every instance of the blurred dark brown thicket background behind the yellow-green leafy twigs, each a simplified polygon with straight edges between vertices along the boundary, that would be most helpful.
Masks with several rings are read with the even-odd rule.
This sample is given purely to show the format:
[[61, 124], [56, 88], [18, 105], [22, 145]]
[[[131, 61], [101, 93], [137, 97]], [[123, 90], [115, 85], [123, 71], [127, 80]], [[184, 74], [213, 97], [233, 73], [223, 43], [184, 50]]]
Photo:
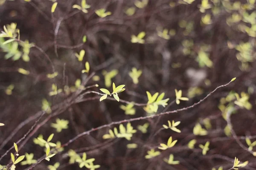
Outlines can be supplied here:
[[[22, 58], [13, 61], [5, 58], [8, 52], [0, 42], [0, 122], [5, 124], [0, 127], [0, 155], [33, 125], [33, 130], [18, 146], [22, 147], [20, 154], [34, 153], [34, 159], [40, 160], [44, 149], [33, 142], [39, 134], [45, 139], [54, 133], [52, 142], [64, 144], [92, 128], [147, 116], [142, 106], [134, 106], [135, 115], [126, 115], [119, 108], [122, 102], [108, 99], [99, 102], [98, 94], [79, 98], [83, 92], [62, 92], [49, 96], [52, 84], [64, 89], [74, 86], [77, 79], [86, 86], [98, 84], [99, 88], [106, 88], [104, 72], [116, 70], [118, 74], [111, 80], [116, 85], [125, 85], [126, 90], [119, 94], [125, 101], [147, 103], [146, 91], [149, 91], [151, 94], [164, 92], [171, 103], [176, 99], [175, 89], [182, 90], [183, 96], [189, 98], [179, 105], [172, 102], [166, 109], [160, 106], [155, 114], [193, 105], [217, 86], [233, 77], [236, 80], [192, 109], [132, 122], [135, 129], [147, 122], [149, 127], [146, 133], [137, 130], [131, 141], [102, 139], [108, 133], [109, 127], [106, 127], [82, 136], [64, 147], [50, 162], [44, 160], [33, 169], [45, 170], [55, 162], [60, 162], [58, 170], [80, 169], [77, 163], [69, 163], [70, 149], [95, 158], [101, 170], [210, 170], [220, 166], [227, 170], [233, 166], [235, 156], [241, 162], [249, 161], [244, 169], [256, 169], [255, 157], [245, 142], [246, 136], [252, 142], [256, 140], [255, 0], [87, 0], [88, 13], [72, 8], [74, 4], [81, 5], [81, 0], [56, 2], [58, 5], [51, 13], [52, 0], [0, 0], [0, 29], [3, 31], [3, 26], [17, 23], [20, 40], [28, 40], [41, 49], [30, 48], [29, 62]], [[100, 8], [111, 11], [111, 15], [99, 17], [95, 11]], [[142, 31], [145, 42], [132, 43], [131, 36]], [[86, 42], [83, 42], [84, 35]], [[81, 50], [85, 55], [79, 62], [75, 54]], [[82, 74], [86, 61], [90, 63], [90, 72]], [[50, 79], [47, 74], [52, 74], [52, 67], [58, 76]], [[129, 77], [133, 67], [142, 71], [137, 85]], [[20, 74], [18, 68], [30, 74]], [[98, 77], [90, 77], [92, 74]], [[14, 88], [9, 94], [6, 90], [11, 84]], [[88, 91], [100, 92], [99, 88]], [[111, 87], [108, 89], [111, 91]], [[234, 103], [238, 100], [234, 93], [242, 97], [241, 92], [244, 92], [244, 101], [239, 106]], [[229, 94], [231, 99], [225, 98]], [[52, 116], [42, 115], [42, 99], [52, 104]], [[237, 137], [227, 129], [224, 119], [227, 106], [235, 110], [230, 121]], [[68, 120], [68, 129], [57, 133], [51, 127], [56, 118]], [[181, 133], [170, 129], [158, 132], [167, 120], [180, 121]], [[193, 134], [198, 123], [207, 129], [207, 135]], [[178, 140], [175, 147], [145, 159], [148, 150], [158, 150], [159, 144], [166, 143], [170, 136]], [[197, 140], [194, 149], [187, 147], [192, 139]], [[204, 156], [198, 144], [207, 141], [209, 151]], [[137, 144], [137, 148], [128, 149], [129, 143]], [[180, 164], [163, 161], [170, 154]], [[8, 153], [0, 164], [6, 165], [9, 161]], [[17, 165], [16, 169], [28, 167]]]

